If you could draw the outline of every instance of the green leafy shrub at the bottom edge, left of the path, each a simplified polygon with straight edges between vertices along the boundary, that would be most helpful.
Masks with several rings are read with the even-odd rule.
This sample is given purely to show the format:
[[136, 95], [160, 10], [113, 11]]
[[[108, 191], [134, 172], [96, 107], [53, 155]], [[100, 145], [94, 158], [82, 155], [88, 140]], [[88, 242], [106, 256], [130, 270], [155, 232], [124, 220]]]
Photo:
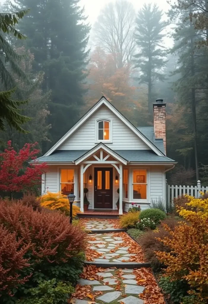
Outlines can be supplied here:
[[56, 279], [40, 281], [38, 286], [30, 288], [27, 296], [16, 304], [66, 304], [74, 288], [69, 283], [56, 282]]

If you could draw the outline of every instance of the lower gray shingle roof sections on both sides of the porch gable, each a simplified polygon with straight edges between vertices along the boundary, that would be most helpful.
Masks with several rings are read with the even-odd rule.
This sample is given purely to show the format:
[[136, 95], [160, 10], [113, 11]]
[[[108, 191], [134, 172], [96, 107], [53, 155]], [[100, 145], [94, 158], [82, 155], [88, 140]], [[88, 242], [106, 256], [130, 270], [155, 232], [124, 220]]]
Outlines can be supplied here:
[[[88, 150], [56, 150], [49, 156], [39, 157], [41, 162], [72, 162]], [[115, 150], [117, 154], [132, 162], [174, 162], [166, 156], [158, 156], [152, 150]]]

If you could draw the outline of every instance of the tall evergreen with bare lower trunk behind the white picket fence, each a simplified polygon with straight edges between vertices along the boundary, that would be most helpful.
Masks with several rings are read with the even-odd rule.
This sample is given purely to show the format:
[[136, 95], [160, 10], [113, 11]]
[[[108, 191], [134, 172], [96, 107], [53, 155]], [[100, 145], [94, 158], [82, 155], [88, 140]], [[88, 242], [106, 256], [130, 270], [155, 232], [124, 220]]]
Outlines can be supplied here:
[[[180, 78], [175, 82], [174, 86], [178, 102], [186, 107], [184, 114], [189, 119], [186, 131], [188, 140], [186, 140], [186, 144], [184, 142], [185, 146], [178, 149], [178, 152], [185, 157], [190, 157], [190, 151], [194, 151], [196, 180], [199, 180], [197, 120], [199, 119], [199, 109], [202, 106], [206, 91], [204, 81], [206, 70], [203, 65], [207, 67], [207, 64], [203, 58], [205, 50], [196, 47], [204, 39], [203, 32], [196, 29], [195, 19], [190, 19], [190, 14], [191, 11], [188, 6], [187, 9], [183, 8], [182, 10], [172, 6], [172, 11], [169, 12], [171, 20], [173, 20], [175, 15], [177, 22], [177, 27], [173, 34], [175, 45], [172, 53], [179, 54], [179, 67], [174, 71], [174, 74], [180, 74]], [[203, 90], [200, 89], [202, 87]]]

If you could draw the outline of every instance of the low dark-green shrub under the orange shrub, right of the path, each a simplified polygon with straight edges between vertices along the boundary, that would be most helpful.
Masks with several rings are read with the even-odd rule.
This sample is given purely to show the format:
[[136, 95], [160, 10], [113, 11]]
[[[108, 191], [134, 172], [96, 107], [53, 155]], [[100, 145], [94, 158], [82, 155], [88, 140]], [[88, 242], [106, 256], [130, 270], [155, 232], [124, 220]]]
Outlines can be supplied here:
[[159, 280], [162, 290], [170, 295], [173, 303], [179, 304], [184, 296], [187, 295], [189, 286], [185, 280], [171, 281], [170, 277], [162, 277]]

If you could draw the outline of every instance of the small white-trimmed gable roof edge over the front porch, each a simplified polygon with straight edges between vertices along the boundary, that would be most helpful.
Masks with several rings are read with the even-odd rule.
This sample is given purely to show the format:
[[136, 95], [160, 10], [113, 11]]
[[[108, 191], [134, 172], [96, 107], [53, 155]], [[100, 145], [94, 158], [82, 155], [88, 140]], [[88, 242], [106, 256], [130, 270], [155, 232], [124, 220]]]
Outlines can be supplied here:
[[116, 151], [111, 150], [104, 143], [98, 143], [97, 146], [93, 147], [91, 150], [89, 150], [86, 153], [84, 153], [81, 157], [77, 158], [74, 161], [75, 165], [80, 164], [82, 161], [86, 160], [86, 158], [90, 157], [91, 155], [93, 155], [94, 153], [96, 153], [100, 149], [104, 150], [107, 154], [109, 154], [112, 157], [116, 158], [122, 164], [127, 165], [128, 161], [125, 158], [121, 157]]

